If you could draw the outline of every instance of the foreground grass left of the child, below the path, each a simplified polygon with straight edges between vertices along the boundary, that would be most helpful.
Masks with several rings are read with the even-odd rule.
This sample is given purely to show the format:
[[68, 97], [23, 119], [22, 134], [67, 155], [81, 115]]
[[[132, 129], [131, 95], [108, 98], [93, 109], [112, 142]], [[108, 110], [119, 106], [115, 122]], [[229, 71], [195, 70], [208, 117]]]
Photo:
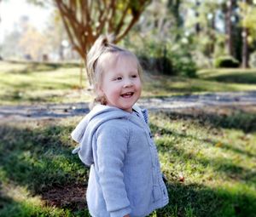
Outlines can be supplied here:
[[73, 125], [70, 120], [2, 124], [0, 216], [89, 216], [87, 170], [71, 154]]

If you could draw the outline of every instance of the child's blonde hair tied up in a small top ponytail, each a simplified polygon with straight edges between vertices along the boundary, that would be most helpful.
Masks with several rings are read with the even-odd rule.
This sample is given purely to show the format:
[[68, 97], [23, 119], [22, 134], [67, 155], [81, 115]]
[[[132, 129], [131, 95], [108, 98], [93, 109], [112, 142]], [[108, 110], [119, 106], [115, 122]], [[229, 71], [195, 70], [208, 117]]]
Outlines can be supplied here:
[[87, 54], [87, 63], [86, 63], [86, 71], [87, 76], [89, 79], [90, 85], [92, 85], [94, 92], [96, 94], [96, 98], [92, 106], [95, 106], [96, 103], [100, 103], [102, 105], [106, 105], [106, 99], [104, 96], [97, 95], [96, 89], [102, 83], [102, 74], [104, 72], [103, 67], [101, 66], [101, 57], [103, 54], [125, 54], [131, 56], [137, 61], [137, 71], [139, 77], [142, 78], [143, 69], [140, 65], [139, 61], [135, 54], [132, 54], [127, 49], [122, 49], [113, 42], [113, 35], [112, 36], [100, 36], [97, 38], [94, 45], [91, 47], [89, 53]]

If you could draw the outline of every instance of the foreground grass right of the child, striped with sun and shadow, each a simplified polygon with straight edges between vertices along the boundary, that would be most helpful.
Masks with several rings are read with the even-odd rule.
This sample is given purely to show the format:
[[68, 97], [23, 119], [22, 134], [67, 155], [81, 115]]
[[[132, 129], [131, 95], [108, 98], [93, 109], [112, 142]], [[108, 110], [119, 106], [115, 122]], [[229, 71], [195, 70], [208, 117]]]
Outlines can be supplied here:
[[[172, 204], [170, 213], [163, 209], [157, 216], [254, 216], [255, 125], [244, 132], [242, 126], [221, 127], [211, 117], [157, 113], [151, 128]], [[188, 208], [192, 215], [186, 214]]]

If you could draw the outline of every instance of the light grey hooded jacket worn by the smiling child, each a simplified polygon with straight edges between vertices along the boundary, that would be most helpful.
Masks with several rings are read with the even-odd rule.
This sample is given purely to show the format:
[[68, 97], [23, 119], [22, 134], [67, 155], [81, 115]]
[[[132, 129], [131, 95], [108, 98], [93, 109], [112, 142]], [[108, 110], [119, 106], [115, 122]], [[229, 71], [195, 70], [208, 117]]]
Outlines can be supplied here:
[[95, 106], [72, 133], [81, 161], [90, 166], [86, 192], [94, 217], [146, 216], [168, 203], [147, 112]]

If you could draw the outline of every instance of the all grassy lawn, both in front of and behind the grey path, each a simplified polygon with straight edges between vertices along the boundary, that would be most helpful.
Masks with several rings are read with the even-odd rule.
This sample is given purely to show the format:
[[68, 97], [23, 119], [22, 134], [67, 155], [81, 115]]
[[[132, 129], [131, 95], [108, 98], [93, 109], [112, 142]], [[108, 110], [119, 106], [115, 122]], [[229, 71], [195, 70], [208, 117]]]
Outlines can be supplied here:
[[[88, 87], [79, 89], [79, 70], [0, 62], [1, 104], [90, 100]], [[207, 70], [188, 79], [146, 73], [143, 97], [256, 90], [254, 74]], [[150, 217], [256, 216], [255, 111], [226, 106], [150, 113], [170, 197]], [[76, 144], [70, 133], [81, 118], [1, 123], [1, 217], [90, 216], [88, 168], [71, 154]]]

